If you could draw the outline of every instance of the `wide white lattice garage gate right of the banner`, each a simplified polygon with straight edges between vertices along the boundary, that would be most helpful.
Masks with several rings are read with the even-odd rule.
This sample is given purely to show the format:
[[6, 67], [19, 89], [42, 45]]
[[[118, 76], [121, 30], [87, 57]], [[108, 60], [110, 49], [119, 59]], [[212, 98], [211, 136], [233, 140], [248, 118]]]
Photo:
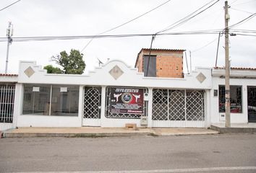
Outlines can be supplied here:
[[205, 126], [203, 91], [153, 89], [152, 106], [153, 127]]

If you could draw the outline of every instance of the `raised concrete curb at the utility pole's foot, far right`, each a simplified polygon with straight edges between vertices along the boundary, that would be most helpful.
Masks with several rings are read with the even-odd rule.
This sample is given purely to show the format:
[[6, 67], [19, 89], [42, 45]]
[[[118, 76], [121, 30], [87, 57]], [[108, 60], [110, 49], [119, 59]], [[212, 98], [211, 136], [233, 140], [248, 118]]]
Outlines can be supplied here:
[[210, 129], [217, 130], [220, 133], [256, 133], [256, 128], [220, 128], [210, 125]]

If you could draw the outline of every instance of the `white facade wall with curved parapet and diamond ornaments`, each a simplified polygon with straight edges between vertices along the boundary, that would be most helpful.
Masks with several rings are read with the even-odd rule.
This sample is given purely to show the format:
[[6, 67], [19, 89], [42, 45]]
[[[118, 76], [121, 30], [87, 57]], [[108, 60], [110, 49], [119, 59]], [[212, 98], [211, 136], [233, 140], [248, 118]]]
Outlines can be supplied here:
[[[118, 66], [123, 74], [114, 79], [109, 71], [114, 66]], [[27, 76], [25, 70], [32, 68], [34, 74]], [[197, 80], [197, 75], [202, 73], [206, 78], [200, 82]], [[20, 84], [74, 84], [80, 85], [80, 110], [78, 117], [57, 117], [43, 115], [22, 115], [22, 99], [17, 105], [19, 107], [17, 115], [18, 127], [80, 127], [82, 125], [83, 113], [83, 87], [84, 86], [102, 86], [102, 102], [101, 102], [101, 122], [102, 127], [124, 127], [126, 123], [136, 123], [140, 126], [140, 119], [122, 119], [122, 118], [106, 118], [106, 86], [137, 86], [150, 88], [150, 96], [152, 97], [153, 88], [166, 89], [210, 89], [211, 88], [211, 71], [210, 68], [196, 68], [191, 74], [184, 76], [184, 79], [171, 78], [152, 78], [144, 77], [142, 73], [137, 72], [137, 68], [127, 66], [122, 61], [108, 61], [100, 68], [95, 68], [95, 71], [90, 71], [88, 75], [64, 75], [64, 74], [46, 74], [41, 66], [36, 65], [34, 61], [21, 61], [18, 82]], [[20, 93], [20, 96], [22, 93]], [[152, 104], [152, 102], [150, 102]], [[151, 109], [152, 106], [148, 105]], [[151, 118], [152, 111], [148, 110], [148, 117]], [[152, 121], [148, 120], [148, 126], [152, 126]]]

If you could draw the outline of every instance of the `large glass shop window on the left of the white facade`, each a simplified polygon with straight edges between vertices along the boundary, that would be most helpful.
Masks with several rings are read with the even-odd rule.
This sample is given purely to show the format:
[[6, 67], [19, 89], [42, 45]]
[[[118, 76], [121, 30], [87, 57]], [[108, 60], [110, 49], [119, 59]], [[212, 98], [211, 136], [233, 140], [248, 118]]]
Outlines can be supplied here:
[[25, 84], [23, 114], [78, 115], [79, 86]]

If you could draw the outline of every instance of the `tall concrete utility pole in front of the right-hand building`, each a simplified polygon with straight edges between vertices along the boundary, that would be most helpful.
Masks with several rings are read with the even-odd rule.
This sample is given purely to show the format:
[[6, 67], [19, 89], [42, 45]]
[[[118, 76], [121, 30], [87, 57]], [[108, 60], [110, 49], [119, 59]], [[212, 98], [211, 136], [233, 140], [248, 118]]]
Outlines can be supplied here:
[[226, 110], [226, 128], [230, 128], [230, 63], [229, 63], [229, 5], [228, 1], [225, 1], [225, 110]]

